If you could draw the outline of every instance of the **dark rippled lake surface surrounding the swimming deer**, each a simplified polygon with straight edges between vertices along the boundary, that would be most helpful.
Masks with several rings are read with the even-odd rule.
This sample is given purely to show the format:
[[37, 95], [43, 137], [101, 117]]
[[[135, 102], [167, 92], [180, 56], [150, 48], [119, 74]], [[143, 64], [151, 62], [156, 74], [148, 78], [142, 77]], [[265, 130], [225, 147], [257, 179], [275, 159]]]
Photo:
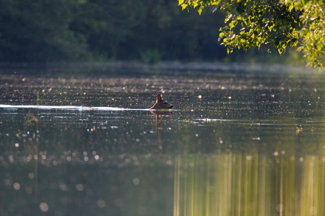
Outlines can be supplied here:
[[7, 68], [0, 215], [325, 215], [324, 75], [128, 70]]

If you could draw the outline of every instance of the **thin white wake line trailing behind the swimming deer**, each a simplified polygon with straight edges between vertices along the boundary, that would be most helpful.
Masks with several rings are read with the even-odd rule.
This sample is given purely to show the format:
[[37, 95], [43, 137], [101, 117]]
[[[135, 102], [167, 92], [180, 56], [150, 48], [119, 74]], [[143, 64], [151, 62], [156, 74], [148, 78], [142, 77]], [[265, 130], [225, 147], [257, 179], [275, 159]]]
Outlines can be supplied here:
[[5, 109], [41, 109], [41, 110], [103, 110], [103, 111], [149, 111], [149, 109], [125, 109], [119, 107], [105, 107], [105, 106], [45, 106], [45, 105], [7, 105], [0, 104], [0, 108]]

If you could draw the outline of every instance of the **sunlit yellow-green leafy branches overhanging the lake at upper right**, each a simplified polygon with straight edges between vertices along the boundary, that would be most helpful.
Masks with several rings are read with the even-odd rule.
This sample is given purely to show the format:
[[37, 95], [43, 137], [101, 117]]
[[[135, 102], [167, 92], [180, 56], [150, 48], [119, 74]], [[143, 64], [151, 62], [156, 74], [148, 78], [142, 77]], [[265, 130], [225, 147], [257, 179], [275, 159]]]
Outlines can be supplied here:
[[196, 8], [201, 14], [208, 6], [225, 12], [219, 42], [234, 49], [248, 50], [268, 45], [281, 54], [296, 47], [307, 65], [325, 66], [325, 1], [318, 0], [179, 0], [182, 9]]

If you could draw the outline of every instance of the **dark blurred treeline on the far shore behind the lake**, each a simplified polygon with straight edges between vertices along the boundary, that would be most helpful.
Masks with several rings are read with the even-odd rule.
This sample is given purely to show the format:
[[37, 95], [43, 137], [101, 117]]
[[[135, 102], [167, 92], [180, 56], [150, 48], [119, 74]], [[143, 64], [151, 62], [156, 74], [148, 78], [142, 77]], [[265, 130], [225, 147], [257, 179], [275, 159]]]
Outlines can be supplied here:
[[[224, 16], [170, 0], [0, 0], [1, 61], [215, 61]], [[238, 55], [238, 54], [237, 54]]]

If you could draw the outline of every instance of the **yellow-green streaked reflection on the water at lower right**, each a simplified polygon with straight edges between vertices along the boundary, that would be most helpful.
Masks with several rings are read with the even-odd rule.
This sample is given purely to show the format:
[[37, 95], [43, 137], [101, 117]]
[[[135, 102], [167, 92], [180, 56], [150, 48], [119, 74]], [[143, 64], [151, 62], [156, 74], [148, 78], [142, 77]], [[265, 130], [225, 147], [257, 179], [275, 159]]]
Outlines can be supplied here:
[[323, 215], [324, 152], [178, 155], [174, 215]]

